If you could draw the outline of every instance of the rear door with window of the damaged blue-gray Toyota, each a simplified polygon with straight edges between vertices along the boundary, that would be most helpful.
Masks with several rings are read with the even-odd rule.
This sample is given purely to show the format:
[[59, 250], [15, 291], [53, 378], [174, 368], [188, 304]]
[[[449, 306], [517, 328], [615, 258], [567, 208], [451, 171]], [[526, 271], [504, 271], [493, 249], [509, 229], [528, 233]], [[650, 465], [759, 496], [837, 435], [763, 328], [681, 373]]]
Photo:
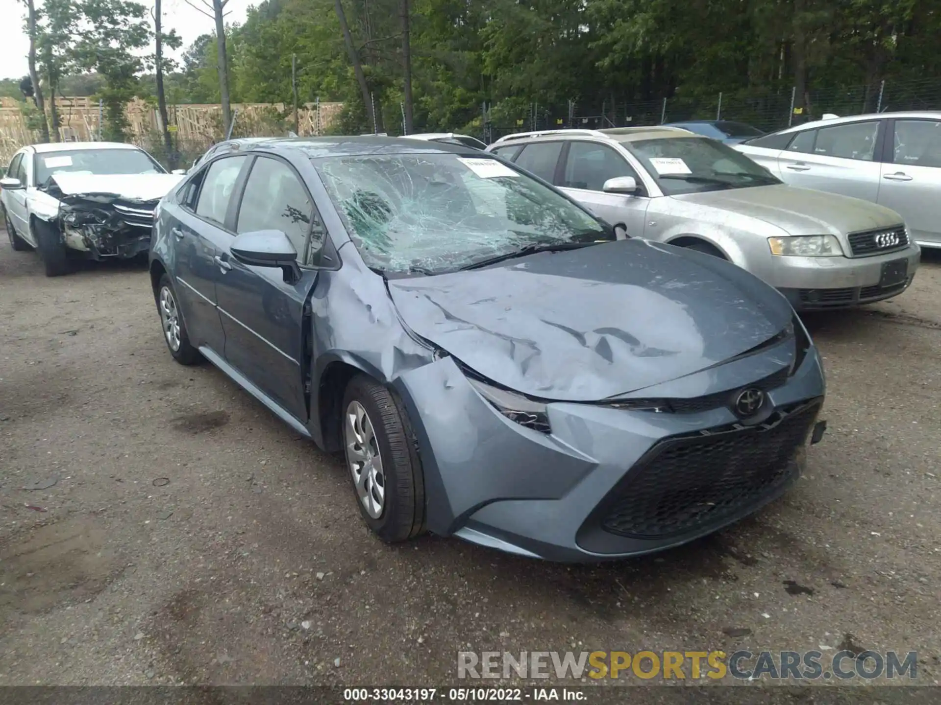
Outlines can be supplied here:
[[200, 169], [169, 223], [186, 332], [193, 345], [205, 345], [220, 356], [225, 353], [225, 335], [216, 310], [216, 283], [225, 270], [219, 256], [233, 237], [232, 196], [246, 160], [245, 155], [224, 157]]

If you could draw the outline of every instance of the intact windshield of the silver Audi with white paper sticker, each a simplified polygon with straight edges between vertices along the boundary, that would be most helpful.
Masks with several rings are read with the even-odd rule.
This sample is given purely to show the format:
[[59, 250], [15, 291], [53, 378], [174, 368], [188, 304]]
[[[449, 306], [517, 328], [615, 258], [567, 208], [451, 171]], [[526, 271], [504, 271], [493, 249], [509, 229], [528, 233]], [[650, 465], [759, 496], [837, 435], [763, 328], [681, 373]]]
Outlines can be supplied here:
[[781, 183], [741, 152], [708, 137], [625, 142], [667, 196]]

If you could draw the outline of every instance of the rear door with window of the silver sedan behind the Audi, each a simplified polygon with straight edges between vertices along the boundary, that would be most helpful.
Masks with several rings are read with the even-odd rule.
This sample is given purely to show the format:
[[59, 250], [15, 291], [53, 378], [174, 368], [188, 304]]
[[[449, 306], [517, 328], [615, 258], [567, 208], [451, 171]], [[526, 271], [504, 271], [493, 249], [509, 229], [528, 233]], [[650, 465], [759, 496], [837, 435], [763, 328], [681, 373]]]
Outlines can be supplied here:
[[797, 133], [778, 156], [781, 179], [875, 203], [880, 166], [876, 147], [884, 123], [863, 120]]

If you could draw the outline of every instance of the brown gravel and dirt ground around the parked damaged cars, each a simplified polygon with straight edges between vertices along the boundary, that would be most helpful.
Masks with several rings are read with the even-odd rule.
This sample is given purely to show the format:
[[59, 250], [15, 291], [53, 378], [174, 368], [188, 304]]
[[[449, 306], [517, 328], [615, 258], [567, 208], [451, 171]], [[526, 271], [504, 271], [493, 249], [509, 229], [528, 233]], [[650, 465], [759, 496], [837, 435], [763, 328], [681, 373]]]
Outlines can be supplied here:
[[560, 566], [373, 539], [340, 462], [172, 362], [143, 268], [49, 279], [2, 240], [0, 684], [434, 685], [462, 649], [846, 646], [917, 650], [941, 682], [941, 257], [894, 301], [807, 317], [829, 431], [782, 500]]

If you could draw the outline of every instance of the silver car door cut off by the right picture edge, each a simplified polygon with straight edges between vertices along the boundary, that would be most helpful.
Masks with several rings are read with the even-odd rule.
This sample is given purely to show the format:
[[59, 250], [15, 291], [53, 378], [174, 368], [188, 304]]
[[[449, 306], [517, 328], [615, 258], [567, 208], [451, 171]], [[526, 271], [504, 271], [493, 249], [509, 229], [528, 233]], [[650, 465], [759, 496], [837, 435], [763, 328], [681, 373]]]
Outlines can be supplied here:
[[918, 243], [941, 247], [941, 120], [892, 123], [879, 204], [898, 211]]

